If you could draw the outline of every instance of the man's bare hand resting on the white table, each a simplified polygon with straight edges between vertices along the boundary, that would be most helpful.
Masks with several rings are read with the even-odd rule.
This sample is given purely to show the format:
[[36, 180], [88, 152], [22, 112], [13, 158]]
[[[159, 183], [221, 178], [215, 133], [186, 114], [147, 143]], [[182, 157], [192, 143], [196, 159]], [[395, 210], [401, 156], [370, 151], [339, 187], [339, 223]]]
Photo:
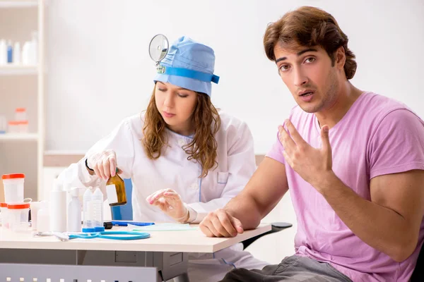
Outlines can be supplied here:
[[235, 237], [244, 232], [242, 223], [225, 209], [210, 212], [201, 221], [200, 230], [208, 237]]

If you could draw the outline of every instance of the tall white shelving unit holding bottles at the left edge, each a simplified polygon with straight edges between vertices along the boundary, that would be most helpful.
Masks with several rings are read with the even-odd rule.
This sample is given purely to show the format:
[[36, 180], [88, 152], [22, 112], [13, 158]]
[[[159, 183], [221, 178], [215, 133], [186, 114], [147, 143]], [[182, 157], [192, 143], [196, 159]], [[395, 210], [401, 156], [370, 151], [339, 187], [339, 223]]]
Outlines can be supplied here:
[[[6, 130], [6, 133], [0, 133], [0, 149], [3, 150], [0, 154], [18, 158], [4, 164], [0, 174], [16, 170], [24, 172], [27, 178], [25, 183], [28, 184], [25, 185], [25, 193], [33, 199], [37, 199], [43, 183], [46, 1], [0, 0], [0, 18], [4, 19], [0, 26], [0, 89], [4, 89], [0, 91], [0, 101], [5, 102], [0, 103], [0, 132], [1, 128]], [[23, 17], [28, 25], [20, 25]], [[7, 59], [4, 57], [6, 51]], [[10, 108], [18, 106], [23, 108], [16, 110], [28, 107], [29, 115], [26, 118], [17, 118], [11, 114]], [[10, 129], [11, 121], [22, 122], [28, 119], [29, 133], [22, 126]], [[17, 129], [20, 133], [16, 133]], [[20, 152], [21, 146], [25, 147], [25, 152]], [[32, 156], [30, 161], [22, 161], [27, 155]]]

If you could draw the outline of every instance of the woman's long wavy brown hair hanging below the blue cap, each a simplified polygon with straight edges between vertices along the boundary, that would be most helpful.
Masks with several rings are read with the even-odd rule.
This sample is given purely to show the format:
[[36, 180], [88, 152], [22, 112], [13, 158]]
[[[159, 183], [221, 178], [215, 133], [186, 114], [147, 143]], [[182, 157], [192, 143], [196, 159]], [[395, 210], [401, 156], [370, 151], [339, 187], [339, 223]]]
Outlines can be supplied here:
[[[211, 98], [204, 93], [197, 93], [197, 104], [192, 118], [196, 126], [192, 142], [183, 147], [189, 155], [188, 160], [194, 159], [201, 164], [200, 178], [208, 175], [208, 171], [218, 163], [216, 149], [218, 143], [215, 135], [220, 128], [220, 116], [213, 106]], [[164, 146], [167, 145], [166, 123], [160, 115], [155, 102], [155, 89], [148, 103], [144, 116], [143, 139], [144, 151], [149, 159], [158, 159]]]

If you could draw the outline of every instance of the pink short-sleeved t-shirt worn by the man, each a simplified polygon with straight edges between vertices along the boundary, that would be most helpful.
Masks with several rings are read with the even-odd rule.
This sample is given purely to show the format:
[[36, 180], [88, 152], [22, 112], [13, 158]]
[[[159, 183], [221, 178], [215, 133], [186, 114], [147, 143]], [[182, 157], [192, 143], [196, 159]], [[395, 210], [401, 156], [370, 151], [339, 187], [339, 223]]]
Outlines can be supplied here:
[[[296, 106], [289, 118], [306, 142], [312, 147], [322, 147], [314, 114]], [[341, 121], [329, 130], [329, 138], [334, 173], [367, 200], [370, 200], [371, 178], [424, 170], [424, 122], [393, 99], [370, 92], [361, 94]], [[285, 164], [282, 151], [277, 138], [267, 157]], [[324, 197], [290, 166], [285, 166], [285, 173], [298, 219], [297, 255], [329, 262], [355, 282], [409, 280], [423, 245], [423, 223], [413, 255], [404, 262], [395, 262], [363, 243]]]

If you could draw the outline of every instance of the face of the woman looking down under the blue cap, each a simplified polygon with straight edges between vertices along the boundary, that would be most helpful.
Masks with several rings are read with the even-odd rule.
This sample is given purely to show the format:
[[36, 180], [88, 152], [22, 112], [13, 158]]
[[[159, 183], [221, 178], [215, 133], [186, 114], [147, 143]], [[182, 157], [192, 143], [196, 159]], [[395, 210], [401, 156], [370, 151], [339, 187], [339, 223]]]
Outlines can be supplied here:
[[156, 107], [170, 130], [185, 136], [194, 133], [192, 114], [196, 109], [197, 95], [192, 90], [167, 82], [156, 82]]

